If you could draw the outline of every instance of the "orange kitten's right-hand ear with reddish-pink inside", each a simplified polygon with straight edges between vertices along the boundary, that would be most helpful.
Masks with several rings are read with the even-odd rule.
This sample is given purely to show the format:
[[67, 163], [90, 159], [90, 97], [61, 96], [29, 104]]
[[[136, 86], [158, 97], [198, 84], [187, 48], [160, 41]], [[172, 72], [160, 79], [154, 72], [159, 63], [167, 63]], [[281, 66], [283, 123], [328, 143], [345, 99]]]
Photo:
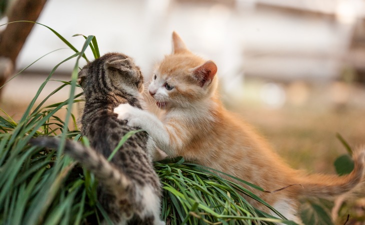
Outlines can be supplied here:
[[199, 85], [202, 87], [205, 83], [210, 83], [216, 74], [217, 67], [213, 61], [206, 61], [204, 64], [199, 65], [192, 70], [192, 74], [198, 80]]

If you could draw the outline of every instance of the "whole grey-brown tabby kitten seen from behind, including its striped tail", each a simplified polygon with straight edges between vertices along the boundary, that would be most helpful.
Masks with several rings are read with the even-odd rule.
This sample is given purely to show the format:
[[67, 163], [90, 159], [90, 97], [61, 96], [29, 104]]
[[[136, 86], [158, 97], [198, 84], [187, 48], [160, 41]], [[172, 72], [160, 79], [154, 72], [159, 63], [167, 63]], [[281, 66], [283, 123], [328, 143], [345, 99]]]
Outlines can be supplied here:
[[[161, 187], [147, 149], [147, 133], [133, 134], [110, 162], [106, 160], [124, 134], [138, 129], [117, 119], [113, 108], [126, 103], [142, 110], [139, 67], [124, 54], [107, 53], [85, 65], [78, 78], [85, 96], [82, 134], [91, 148], [66, 141], [65, 153], [98, 178], [98, 200], [115, 224], [165, 224], [159, 219]], [[59, 140], [43, 137], [32, 143], [54, 148]]]

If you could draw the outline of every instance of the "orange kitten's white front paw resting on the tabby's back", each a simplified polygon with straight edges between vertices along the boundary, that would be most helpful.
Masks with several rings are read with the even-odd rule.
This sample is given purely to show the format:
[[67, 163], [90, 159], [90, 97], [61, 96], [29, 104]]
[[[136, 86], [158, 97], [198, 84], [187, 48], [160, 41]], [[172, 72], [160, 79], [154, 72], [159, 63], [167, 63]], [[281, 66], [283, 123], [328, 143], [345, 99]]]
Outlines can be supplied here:
[[117, 118], [120, 120], [127, 120], [128, 126], [140, 126], [140, 119], [138, 118], [138, 113], [141, 110], [139, 108], [133, 107], [128, 103], [119, 104], [114, 108], [114, 112], [118, 114]]

